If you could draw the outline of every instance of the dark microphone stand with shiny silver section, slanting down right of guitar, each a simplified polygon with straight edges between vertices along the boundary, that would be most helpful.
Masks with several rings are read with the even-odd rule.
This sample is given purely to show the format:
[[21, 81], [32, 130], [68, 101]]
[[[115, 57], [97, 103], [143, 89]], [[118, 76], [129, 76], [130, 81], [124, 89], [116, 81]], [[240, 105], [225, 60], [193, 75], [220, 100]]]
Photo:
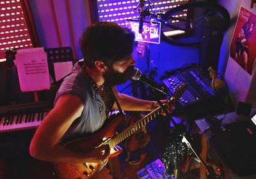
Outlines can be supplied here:
[[[151, 92], [153, 92], [153, 94], [155, 94], [154, 96], [156, 96], [156, 88], [152, 87], [150, 85], [148, 85], [150, 88], [149, 90]], [[160, 91], [161, 90], [157, 90]], [[168, 94], [168, 92], [164, 92], [163, 94]], [[168, 94], [168, 96], [170, 96], [170, 94]], [[185, 125], [180, 122], [179, 124], [177, 124], [175, 122], [175, 120], [172, 118], [172, 116], [170, 115], [170, 113], [166, 110], [166, 108], [164, 108], [163, 104], [161, 103], [160, 99], [156, 99], [157, 103], [161, 106], [161, 108], [163, 108], [164, 113], [166, 113], [167, 117], [170, 118], [172, 124], [174, 125], [173, 127], [173, 132], [175, 132], [175, 137], [177, 138], [182, 138], [182, 141], [177, 141], [179, 143], [186, 143], [186, 145], [188, 146], [188, 148], [191, 149], [191, 151], [193, 152], [193, 154], [195, 154], [195, 156], [198, 158], [198, 160], [201, 162], [201, 164], [204, 166], [205, 169], [208, 170], [208, 176], [211, 179], [215, 179], [215, 178], [221, 178], [217, 177], [216, 175], [214, 175], [214, 171], [212, 168], [210, 168], [209, 166], [207, 166], [207, 164], [204, 162], [204, 160], [202, 159], [202, 157], [200, 157], [199, 154], [197, 154], [197, 152], [194, 150], [193, 146], [191, 145], [191, 143], [189, 141], [191, 141], [191, 139], [189, 139], [188, 137], [188, 131], [186, 130]], [[170, 157], [169, 157], [170, 158]], [[166, 167], [166, 171], [168, 170], [168, 166]], [[177, 169], [175, 169], [175, 175], [177, 175]], [[175, 179], [177, 179], [177, 177], [175, 176]]]

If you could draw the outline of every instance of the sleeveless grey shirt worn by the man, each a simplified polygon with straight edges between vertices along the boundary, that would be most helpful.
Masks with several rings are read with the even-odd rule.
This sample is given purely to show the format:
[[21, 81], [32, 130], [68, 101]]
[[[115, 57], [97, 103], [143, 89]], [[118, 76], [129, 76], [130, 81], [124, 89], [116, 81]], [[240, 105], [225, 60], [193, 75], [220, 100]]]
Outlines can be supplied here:
[[[83, 62], [83, 59], [79, 62]], [[79, 62], [74, 65], [71, 74], [64, 78], [54, 100], [55, 106], [61, 95], [69, 93], [79, 97], [84, 104], [81, 117], [73, 122], [61, 140], [95, 132], [106, 120], [106, 106], [99, 93], [92, 87]]]

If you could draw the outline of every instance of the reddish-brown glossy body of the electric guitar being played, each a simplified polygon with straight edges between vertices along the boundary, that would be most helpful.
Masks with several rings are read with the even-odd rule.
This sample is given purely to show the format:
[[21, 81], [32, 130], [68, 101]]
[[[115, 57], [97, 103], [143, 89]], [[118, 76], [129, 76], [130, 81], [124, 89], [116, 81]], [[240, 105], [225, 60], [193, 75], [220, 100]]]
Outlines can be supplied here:
[[[119, 115], [111, 118], [98, 131], [90, 136], [74, 139], [61, 145], [76, 152], [90, 153], [94, 148], [99, 147], [104, 141], [115, 136], [118, 125], [124, 121], [124, 116]], [[122, 148], [115, 146], [111, 148], [109, 158], [122, 153]], [[100, 164], [93, 162], [84, 163], [56, 163], [55, 171], [61, 179], [88, 179], [97, 171]]]

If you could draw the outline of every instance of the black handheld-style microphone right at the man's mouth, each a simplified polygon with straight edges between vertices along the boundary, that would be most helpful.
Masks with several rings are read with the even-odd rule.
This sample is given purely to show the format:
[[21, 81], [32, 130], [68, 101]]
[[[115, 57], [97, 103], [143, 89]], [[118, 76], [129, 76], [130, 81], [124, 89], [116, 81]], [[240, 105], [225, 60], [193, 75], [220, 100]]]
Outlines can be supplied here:
[[153, 80], [150, 80], [147, 76], [143, 75], [138, 68], [134, 68], [133, 75], [131, 80], [138, 80], [140, 82], [145, 83], [148, 85], [148, 87], [151, 87], [152, 89], [158, 90], [159, 92], [162, 92], [163, 94], [168, 94], [164, 87], [159, 87], [159, 85], [156, 84]]

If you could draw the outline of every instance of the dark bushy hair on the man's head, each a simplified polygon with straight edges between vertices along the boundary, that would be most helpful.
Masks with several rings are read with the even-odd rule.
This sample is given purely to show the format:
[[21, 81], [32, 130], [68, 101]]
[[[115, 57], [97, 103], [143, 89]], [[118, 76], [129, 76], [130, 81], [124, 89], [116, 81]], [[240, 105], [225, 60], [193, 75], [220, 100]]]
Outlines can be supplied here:
[[132, 54], [134, 33], [114, 22], [99, 22], [86, 28], [80, 39], [85, 65], [93, 68], [95, 61], [112, 66]]

